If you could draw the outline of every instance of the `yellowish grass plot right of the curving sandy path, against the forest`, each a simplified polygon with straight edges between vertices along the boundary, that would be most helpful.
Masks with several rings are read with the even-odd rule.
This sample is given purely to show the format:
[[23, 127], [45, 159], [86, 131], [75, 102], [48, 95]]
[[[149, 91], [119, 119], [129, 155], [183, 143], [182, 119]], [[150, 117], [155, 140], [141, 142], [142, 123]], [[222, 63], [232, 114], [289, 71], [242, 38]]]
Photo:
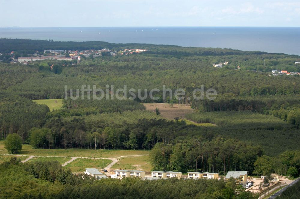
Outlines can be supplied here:
[[120, 160], [114, 164], [111, 169], [151, 171], [152, 166], [149, 156], [133, 156], [120, 158]]

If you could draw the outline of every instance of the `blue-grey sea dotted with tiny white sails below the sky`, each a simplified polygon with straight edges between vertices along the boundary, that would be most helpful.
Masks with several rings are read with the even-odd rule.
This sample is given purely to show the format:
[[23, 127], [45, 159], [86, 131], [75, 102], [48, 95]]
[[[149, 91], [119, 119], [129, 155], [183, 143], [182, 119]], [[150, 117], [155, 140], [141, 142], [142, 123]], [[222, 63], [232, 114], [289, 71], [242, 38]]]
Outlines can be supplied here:
[[0, 37], [169, 44], [300, 55], [300, 27], [0, 28]]

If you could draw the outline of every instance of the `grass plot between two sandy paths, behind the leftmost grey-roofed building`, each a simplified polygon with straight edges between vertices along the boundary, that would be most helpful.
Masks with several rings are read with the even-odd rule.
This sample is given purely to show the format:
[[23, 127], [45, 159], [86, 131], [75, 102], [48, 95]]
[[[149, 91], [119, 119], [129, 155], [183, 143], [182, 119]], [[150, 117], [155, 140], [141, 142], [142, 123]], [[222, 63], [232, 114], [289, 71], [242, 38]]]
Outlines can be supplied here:
[[[72, 172], [84, 172], [85, 168], [104, 168], [112, 161], [108, 159], [85, 159], [78, 158], [73, 162], [70, 162], [65, 168], [70, 168]], [[101, 171], [101, 170], [100, 170]]]

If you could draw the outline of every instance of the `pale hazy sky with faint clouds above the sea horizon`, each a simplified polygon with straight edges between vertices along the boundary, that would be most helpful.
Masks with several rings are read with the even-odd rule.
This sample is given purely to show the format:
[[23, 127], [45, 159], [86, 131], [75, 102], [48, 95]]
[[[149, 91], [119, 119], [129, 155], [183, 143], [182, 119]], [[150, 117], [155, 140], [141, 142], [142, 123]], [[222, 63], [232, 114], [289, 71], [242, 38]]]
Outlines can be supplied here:
[[299, 0], [0, 0], [0, 27], [300, 26]]

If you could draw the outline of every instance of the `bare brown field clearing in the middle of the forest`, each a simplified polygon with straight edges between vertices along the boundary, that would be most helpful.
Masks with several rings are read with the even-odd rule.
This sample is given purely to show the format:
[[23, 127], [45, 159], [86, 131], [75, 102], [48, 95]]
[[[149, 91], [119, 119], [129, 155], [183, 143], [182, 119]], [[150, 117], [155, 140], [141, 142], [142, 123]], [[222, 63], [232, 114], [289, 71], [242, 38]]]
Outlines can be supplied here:
[[193, 109], [191, 109], [189, 105], [174, 104], [172, 107], [170, 106], [170, 104], [165, 103], [143, 103], [143, 105], [147, 110], [154, 112], [155, 108], [157, 107], [159, 112], [161, 113], [161, 116], [169, 120], [174, 120], [175, 117], [183, 119], [185, 118], [185, 114], [191, 113], [193, 111]]

